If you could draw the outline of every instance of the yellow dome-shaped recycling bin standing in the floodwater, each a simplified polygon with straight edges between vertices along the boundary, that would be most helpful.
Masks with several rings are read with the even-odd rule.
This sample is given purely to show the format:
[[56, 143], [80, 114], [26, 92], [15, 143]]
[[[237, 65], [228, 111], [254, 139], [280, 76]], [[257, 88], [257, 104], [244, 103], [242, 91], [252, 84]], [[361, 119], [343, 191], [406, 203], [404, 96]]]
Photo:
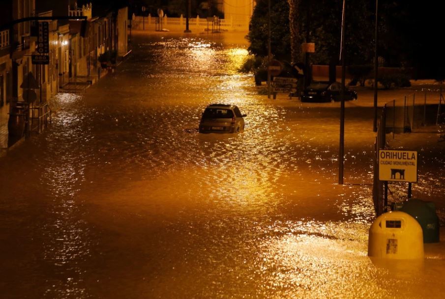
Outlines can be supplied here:
[[389, 212], [377, 217], [369, 228], [368, 256], [422, 259], [422, 227], [404, 212]]

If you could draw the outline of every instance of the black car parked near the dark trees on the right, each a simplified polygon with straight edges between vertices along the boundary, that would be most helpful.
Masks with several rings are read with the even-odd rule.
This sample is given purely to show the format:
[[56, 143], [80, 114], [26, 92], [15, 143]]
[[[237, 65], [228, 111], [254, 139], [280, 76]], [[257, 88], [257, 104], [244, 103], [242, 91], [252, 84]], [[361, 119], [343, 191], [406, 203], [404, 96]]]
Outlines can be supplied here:
[[[357, 93], [345, 86], [345, 101], [357, 99]], [[341, 101], [341, 84], [339, 82], [312, 82], [301, 95], [301, 102], [334, 102]]]

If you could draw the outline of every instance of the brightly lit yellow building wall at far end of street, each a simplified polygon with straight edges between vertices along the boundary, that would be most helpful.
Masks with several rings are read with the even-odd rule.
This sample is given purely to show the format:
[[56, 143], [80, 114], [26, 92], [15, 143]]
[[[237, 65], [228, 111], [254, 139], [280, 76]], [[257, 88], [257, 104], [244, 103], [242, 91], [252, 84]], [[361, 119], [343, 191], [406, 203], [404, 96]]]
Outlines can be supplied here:
[[249, 25], [252, 17], [253, 8], [256, 5], [255, 0], [219, 0], [222, 1], [222, 10], [224, 12], [224, 19], [233, 19], [235, 24], [239, 27]]

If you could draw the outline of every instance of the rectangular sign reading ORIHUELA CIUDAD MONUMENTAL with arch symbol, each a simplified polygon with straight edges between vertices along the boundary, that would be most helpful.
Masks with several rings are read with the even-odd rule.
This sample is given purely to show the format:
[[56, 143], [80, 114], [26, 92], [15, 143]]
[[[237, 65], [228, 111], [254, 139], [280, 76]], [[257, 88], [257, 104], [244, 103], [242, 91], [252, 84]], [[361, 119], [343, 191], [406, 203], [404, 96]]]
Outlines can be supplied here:
[[379, 180], [417, 182], [417, 152], [379, 150]]

